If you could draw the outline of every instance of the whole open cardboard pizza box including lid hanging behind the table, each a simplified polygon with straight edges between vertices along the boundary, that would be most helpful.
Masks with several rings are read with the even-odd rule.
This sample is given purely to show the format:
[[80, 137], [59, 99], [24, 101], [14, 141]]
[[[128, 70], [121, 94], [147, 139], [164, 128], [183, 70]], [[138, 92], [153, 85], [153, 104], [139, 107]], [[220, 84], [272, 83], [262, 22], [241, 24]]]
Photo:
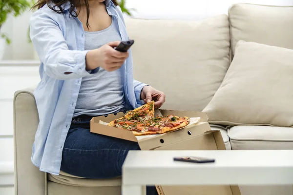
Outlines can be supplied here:
[[[93, 117], [90, 131], [110, 137], [138, 142], [141, 150], [225, 150], [225, 144], [219, 130], [211, 130], [206, 113], [160, 110], [163, 116], [201, 117], [200, 121], [189, 127], [161, 135], [134, 136], [131, 131], [103, 124], [125, 114]], [[223, 176], [224, 177], [224, 176]], [[157, 186], [159, 195], [241, 195], [238, 186]]]

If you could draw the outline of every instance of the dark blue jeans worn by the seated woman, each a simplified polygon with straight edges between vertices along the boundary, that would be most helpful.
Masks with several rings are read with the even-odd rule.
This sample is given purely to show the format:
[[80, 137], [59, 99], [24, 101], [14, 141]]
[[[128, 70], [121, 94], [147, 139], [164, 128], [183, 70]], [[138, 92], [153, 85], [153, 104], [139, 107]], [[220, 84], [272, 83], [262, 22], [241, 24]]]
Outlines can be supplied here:
[[[74, 176], [106, 179], [122, 175], [122, 164], [129, 150], [140, 150], [137, 142], [90, 133], [91, 117], [72, 119], [62, 154], [61, 170]], [[157, 195], [153, 186], [147, 195]]]

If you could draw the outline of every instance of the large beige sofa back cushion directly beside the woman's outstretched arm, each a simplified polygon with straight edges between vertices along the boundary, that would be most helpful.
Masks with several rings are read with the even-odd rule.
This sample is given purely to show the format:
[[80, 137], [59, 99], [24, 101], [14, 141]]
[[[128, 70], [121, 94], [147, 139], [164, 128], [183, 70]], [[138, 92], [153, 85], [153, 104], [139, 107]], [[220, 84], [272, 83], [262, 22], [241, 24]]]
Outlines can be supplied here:
[[134, 78], [166, 93], [165, 109], [202, 111], [230, 65], [228, 16], [126, 20]]

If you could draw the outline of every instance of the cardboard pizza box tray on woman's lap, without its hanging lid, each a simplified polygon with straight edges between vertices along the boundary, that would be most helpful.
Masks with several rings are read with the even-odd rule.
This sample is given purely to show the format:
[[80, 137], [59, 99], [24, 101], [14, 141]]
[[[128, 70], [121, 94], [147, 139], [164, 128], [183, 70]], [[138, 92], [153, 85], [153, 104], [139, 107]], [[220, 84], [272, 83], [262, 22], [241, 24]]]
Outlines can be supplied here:
[[[206, 133], [214, 133], [216, 131], [212, 131], [210, 129], [208, 121], [207, 113], [202, 112], [192, 112], [192, 111], [176, 111], [176, 110], [156, 110], [155, 114], [160, 112], [163, 116], [167, 115], [175, 115], [178, 117], [200, 117], [200, 121], [192, 126], [182, 128], [179, 130], [175, 130], [166, 134], [158, 134], [158, 135], [148, 135], [148, 136], [134, 136], [131, 131], [125, 129], [118, 129], [115, 127], [106, 126], [104, 124], [100, 124], [100, 120], [104, 122], [110, 122], [117, 118], [123, 117], [124, 113], [118, 113], [117, 115], [108, 115], [93, 117], [90, 121], [90, 132], [101, 134], [109, 137], [117, 137], [121, 139], [126, 139], [129, 141], [135, 141], [139, 143], [139, 146], [142, 150], [154, 150], [156, 148], [172, 144], [178, 141], [182, 141], [184, 139], [201, 136]], [[215, 134], [218, 135], [218, 134]], [[220, 134], [219, 134], [220, 135]], [[218, 136], [217, 136], [218, 137]], [[216, 138], [216, 137], [215, 137]], [[216, 138], [217, 139], [217, 138]], [[219, 140], [222, 137], [220, 135]], [[222, 139], [223, 142], [223, 139]], [[221, 148], [225, 148], [224, 142], [219, 143]]]

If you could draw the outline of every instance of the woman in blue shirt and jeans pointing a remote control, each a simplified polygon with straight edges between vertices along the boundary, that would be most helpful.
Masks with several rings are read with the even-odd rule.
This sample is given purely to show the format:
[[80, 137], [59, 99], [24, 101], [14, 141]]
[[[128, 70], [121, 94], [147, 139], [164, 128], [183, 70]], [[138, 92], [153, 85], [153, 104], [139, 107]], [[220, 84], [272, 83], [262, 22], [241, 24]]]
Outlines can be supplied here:
[[[30, 37], [41, 60], [34, 95], [40, 123], [32, 162], [41, 171], [87, 178], [121, 176], [135, 142], [92, 134], [94, 116], [125, 112], [164, 93], [133, 79], [132, 57], [113, 49], [128, 40], [116, 0], [39, 0]], [[154, 194], [154, 188], [148, 194]]]

